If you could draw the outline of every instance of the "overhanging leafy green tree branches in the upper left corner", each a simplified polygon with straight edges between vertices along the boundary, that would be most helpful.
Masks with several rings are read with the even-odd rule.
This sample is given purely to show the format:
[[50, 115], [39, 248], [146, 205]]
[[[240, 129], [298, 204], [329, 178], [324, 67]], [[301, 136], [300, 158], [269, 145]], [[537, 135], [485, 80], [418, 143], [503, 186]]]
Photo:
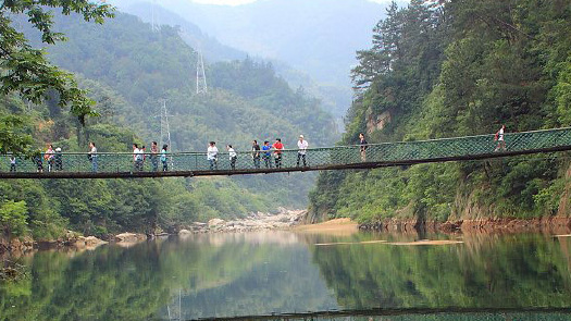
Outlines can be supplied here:
[[[51, 65], [44, 52], [29, 46], [24, 34], [12, 26], [11, 14], [25, 14], [29, 23], [41, 33], [45, 44], [64, 40], [63, 34], [52, 30], [52, 14], [49, 8], [60, 8], [63, 14], [76, 12], [86, 21], [103, 23], [104, 17], [113, 15], [113, 8], [108, 4], [96, 4], [88, 0], [7, 0], [0, 7], [0, 94], [17, 92], [23, 99], [35, 103], [45, 101], [50, 92], [59, 96], [59, 106], [69, 107], [73, 114], [83, 123], [86, 115], [94, 115], [91, 107], [95, 103], [87, 98], [86, 91], [77, 87], [70, 73]], [[4, 126], [14, 126], [18, 122], [2, 120]], [[28, 147], [17, 134], [2, 136], [0, 152], [20, 152], [22, 147]], [[18, 148], [20, 147], [20, 148]]]

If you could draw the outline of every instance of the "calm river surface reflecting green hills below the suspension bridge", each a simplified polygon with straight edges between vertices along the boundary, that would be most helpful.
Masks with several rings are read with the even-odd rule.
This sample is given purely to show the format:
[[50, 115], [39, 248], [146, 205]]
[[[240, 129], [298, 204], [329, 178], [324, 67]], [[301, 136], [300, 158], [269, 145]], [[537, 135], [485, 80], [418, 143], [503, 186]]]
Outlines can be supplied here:
[[[462, 243], [418, 246], [407, 244], [418, 235], [264, 232], [40, 251], [17, 259], [30, 277], [0, 284], [0, 320], [194, 320], [347, 310], [396, 313], [373, 320], [571, 319], [570, 237], [422, 237]], [[517, 314], [534, 308], [557, 312]], [[418, 312], [481, 309], [430, 318]]]

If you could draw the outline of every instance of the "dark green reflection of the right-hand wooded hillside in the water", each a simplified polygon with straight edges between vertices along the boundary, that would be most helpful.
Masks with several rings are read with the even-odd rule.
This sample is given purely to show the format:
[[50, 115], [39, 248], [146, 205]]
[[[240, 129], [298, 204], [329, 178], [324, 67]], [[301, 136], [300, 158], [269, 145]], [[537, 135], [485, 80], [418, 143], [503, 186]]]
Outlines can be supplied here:
[[464, 240], [315, 247], [313, 260], [345, 309], [571, 305], [571, 277], [557, 240], [541, 235]]

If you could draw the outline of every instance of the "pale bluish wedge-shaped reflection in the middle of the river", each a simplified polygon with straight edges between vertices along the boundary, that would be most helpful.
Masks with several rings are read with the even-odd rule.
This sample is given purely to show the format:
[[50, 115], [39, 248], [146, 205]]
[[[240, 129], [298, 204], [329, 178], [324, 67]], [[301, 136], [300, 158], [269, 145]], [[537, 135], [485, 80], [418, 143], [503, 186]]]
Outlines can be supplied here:
[[[300, 246], [275, 251], [272, 245], [265, 262], [221, 286], [183, 293], [183, 318], [259, 316], [337, 308], [331, 291]], [[256, 251], [256, 247], [252, 248]], [[243, 260], [250, 260], [246, 254]], [[177, 298], [171, 308], [177, 305]], [[164, 314], [164, 312], [163, 312]]]

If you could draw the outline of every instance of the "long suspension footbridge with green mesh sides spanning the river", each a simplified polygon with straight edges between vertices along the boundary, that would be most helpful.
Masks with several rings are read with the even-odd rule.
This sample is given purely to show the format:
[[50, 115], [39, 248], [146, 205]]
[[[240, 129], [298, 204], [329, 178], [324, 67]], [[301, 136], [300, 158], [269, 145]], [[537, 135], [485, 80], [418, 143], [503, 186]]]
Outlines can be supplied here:
[[167, 176], [244, 175], [277, 172], [305, 172], [322, 170], [374, 169], [418, 163], [481, 160], [498, 157], [571, 150], [571, 127], [523, 133], [509, 133], [506, 150], [494, 151], [494, 135], [466, 136], [420, 141], [372, 144], [365, 157], [359, 146], [338, 146], [307, 150], [307, 166], [297, 164], [297, 150], [282, 152], [282, 166], [276, 169], [273, 152], [266, 166], [260, 152], [260, 168], [255, 165], [250, 151], [238, 152], [235, 169], [231, 168], [227, 153], [219, 153], [218, 169], [211, 170], [206, 152], [176, 152], [169, 155], [169, 171], [152, 171], [152, 160], [147, 155], [142, 171], [136, 171], [133, 153], [98, 153], [98, 172], [91, 172], [87, 153], [62, 153], [62, 171], [37, 172], [32, 160], [17, 160], [16, 172], [9, 172], [8, 156], [0, 157], [0, 178], [128, 178]]

